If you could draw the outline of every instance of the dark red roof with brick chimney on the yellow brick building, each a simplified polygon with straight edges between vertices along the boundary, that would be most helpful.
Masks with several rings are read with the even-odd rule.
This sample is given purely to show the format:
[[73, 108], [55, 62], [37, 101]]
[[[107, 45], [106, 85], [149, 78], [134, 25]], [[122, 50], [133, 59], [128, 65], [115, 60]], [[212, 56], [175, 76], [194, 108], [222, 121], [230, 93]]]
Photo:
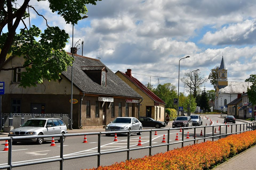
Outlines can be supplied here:
[[[142, 84], [139, 80], [137, 80], [136, 78], [134, 78], [131, 75], [131, 70], [127, 69], [126, 73], [123, 73], [121, 71], [119, 71], [120, 73], [122, 73], [127, 79], [129, 79], [131, 82], [133, 82], [136, 86], [138, 86], [144, 93], [146, 93], [146, 95], [148, 95], [151, 99], [153, 99], [155, 102], [157, 103], [162, 103], [162, 104], [166, 104], [162, 99], [160, 99], [157, 95], [155, 95], [152, 91], [150, 91], [144, 84]], [[127, 75], [128, 74], [128, 75]], [[130, 76], [129, 76], [130, 75]]]

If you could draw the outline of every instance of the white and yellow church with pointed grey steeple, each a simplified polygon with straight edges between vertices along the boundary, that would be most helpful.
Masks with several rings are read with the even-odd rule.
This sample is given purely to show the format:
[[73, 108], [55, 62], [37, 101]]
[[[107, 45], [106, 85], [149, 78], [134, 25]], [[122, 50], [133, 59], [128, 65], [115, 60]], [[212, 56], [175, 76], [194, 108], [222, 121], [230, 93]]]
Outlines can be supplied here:
[[227, 69], [222, 56], [215, 87], [214, 109], [223, 111], [226, 108], [227, 111], [227, 104], [240, 98], [243, 93], [247, 92], [247, 87], [251, 85], [251, 82], [229, 82], [227, 80]]

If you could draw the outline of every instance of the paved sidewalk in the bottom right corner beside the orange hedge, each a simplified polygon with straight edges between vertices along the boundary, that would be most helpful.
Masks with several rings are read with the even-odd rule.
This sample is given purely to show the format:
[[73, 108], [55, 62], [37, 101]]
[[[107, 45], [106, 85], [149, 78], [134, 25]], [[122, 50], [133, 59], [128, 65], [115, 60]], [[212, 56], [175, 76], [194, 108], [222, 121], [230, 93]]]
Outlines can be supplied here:
[[225, 169], [256, 169], [254, 162], [256, 158], [256, 146], [253, 146], [246, 151], [234, 156], [226, 162], [218, 165], [212, 170], [225, 170]]

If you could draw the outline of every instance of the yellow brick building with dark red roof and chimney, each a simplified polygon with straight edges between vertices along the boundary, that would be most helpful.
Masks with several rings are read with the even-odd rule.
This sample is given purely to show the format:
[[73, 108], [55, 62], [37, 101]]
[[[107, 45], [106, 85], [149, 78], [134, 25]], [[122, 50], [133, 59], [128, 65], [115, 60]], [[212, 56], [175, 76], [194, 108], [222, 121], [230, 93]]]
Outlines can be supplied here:
[[139, 116], [151, 117], [158, 121], [165, 120], [166, 103], [134, 78], [131, 75], [131, 69], [127, 69], [125, 73], [117, 71], [115, 74], [143, 97], [139, 107]]

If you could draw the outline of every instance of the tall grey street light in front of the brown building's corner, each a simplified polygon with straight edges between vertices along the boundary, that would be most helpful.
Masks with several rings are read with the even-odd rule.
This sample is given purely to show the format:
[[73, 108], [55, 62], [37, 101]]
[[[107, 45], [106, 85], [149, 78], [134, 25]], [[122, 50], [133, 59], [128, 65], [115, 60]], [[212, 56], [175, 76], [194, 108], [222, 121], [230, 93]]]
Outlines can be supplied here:
[[[82, 19], [88, 18], [88, 15], [85, 15], [82, 17]], [[71, 47], [71, 52], [72, 52], [72, 58], [74, 58], [74, 54], [77, 53], [77, 48], [73, 46], [73, 41], [74, 41], [74, 24], [72, 28], [72, 47]], [[73, 113], [73, 61], [72, 61], [72, 66], [71, 66], [71, 100], [70, 100], [70, 117], [69, 117], [69, 129], [73, 130], [72, 124], [73, 124], [73, 119], [72, 119], [72, 113]]]

